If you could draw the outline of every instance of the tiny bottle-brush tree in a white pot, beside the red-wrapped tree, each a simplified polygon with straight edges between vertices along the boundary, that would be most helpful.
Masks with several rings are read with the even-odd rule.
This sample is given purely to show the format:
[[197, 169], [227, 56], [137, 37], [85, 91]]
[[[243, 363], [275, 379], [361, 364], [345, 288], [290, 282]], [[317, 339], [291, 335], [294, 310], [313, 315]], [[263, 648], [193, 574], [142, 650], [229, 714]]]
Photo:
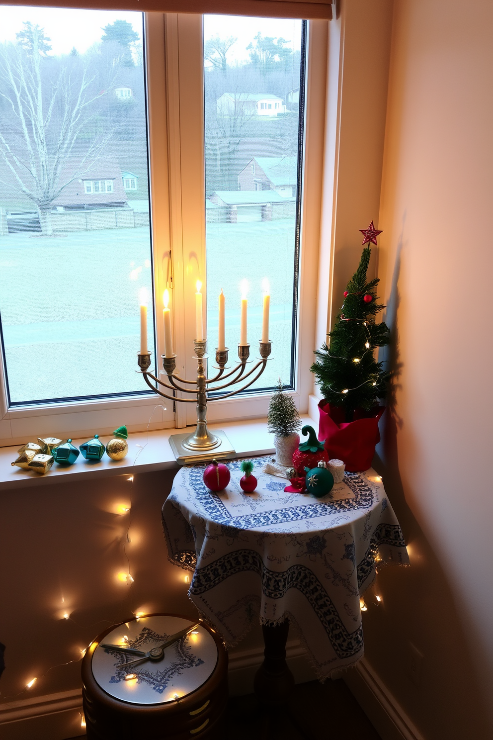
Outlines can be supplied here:
[[269, 404], [267, 430], [274, 435], [276, 464], [290, 468], [293, 464], [293, 452], [299, 445], [297, 429], [302, 425], [298, 409], [293, 398], [284, 391], [281, 379]]

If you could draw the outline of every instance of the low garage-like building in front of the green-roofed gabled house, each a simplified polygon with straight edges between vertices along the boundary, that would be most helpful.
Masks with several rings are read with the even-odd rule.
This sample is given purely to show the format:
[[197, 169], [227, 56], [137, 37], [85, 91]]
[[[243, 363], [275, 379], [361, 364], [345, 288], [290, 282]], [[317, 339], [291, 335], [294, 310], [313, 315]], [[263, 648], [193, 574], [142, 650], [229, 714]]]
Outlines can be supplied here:
[[225, 209], [227, 214], [225, 220], [229, 223], [292, 218], [296, 204], [296, 198], [283, 198], [273, 190], [264, 192], [217, 190], [209, 196], [209, 200]]

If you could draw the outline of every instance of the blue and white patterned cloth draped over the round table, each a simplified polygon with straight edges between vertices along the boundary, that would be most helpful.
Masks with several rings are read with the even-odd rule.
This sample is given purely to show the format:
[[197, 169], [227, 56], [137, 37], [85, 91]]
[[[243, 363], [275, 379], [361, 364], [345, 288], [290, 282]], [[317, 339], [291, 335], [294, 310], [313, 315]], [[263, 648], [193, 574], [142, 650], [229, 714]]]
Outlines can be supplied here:
[[163, 506], [169, 558], [194, 571], [189, 596], [234, 645], [255, 622], [288, 617], [320, 676], [364, 652], [360, 594], [379, 562], [408, 565], [401, 527], [375, 471], [346, 473], [331, 494], [285, 494], [254, 460], [254, 494], [231, 481], [211, 494], [205, 465], [181, 468]]

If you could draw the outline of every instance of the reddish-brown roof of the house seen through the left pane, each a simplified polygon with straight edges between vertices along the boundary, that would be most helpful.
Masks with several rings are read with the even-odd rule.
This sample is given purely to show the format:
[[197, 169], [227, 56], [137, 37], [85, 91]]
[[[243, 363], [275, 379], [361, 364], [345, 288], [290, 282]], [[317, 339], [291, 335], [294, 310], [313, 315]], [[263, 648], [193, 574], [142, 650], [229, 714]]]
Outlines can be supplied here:
[[[72, 172], [74, 166], [72, 165]], [[85, 180], [112, 180], [113, 192], [86, 193], [84, 192]], [[63, 181], [63, 175], [62, 175]], [[81, 178], [71, 182], [64, 187], [58, 198], [52, 201], [52, 206], [77, 206], [77, 205], [104, 205], [104, 203], [121, 203], [127, 201], [126, 192], [123, 189], [123, 178], [118, 162], [112, 158], [99, 158], [94, 164], [89, 165]]]

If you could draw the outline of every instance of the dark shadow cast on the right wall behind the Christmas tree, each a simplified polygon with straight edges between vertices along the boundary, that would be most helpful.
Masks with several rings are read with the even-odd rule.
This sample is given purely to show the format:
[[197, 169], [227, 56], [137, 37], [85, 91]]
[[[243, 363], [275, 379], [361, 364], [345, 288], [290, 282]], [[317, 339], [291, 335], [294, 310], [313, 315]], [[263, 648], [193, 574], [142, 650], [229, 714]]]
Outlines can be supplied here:
[[[374, 468], [384, 477], [392, 507], [401, 522], [409, 545], [411, 568], [382, 568], [378, 572], [378, 591], [383, 604], [370, 608], [364, 615], [365, 656], [404, 712], [418, 728], [423, 728], [428, 740], [486, 739], [493, 732], [487, 699], [482, 696], [477, 660], [472, 655], [475, 647], [471, 645], [472, 630], [468, 630], [466, 616], [455, 602], [440, 554], [434, 550], [432, 530], [428, 536], [424, 534], [408, 505], [406, 493], [419, 517], [419, 498], [413, 496], [419, 482], [409, 480], [404, 489], [399, 471], [398, 436], [403, 430], [407, 457], [418, 460], [420, 454], [419, 440], [406, 428], [405, 408], [403, 414], [398, 403], [400, 399], [406, 400], [405, 377], [401, 383], [405, 369], [399, 351], [398, 326], [401, 301], [398, 283], [404, 244], [403, 223], [386, 312], [392, 343], [381, 356], [389, 363], [393, 378], [387, 413], [381, 420], [381, 443]], [[422, 330], [426, 331], [426, 327]], [[426, 357], [423, 361], [426, 362]], [[415, 673], [411, 670], [412, 647], [423, 656]]]

